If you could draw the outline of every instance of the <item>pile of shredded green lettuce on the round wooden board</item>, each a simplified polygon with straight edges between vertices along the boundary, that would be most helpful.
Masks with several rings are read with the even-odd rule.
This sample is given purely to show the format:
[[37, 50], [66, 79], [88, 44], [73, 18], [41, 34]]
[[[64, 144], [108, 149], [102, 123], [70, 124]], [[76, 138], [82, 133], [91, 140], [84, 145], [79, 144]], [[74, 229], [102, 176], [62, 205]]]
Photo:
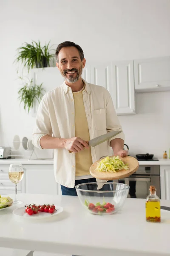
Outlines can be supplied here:
[[128, 165], [120, 160], [119, 156], [105, 157], [101, 159], [96, 168], [98, 172], [119, 172], [128, 169]]

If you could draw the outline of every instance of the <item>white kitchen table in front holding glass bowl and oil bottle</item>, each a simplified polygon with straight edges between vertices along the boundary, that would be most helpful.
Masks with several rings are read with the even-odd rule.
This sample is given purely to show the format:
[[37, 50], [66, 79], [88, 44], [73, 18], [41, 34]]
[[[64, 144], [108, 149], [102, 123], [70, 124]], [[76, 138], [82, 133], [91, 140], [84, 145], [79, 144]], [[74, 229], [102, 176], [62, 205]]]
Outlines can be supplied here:
[[[170, 255], [170, 211], [161, 210], [161, 223], [148, 223], [144, 199], [126, 199], [121, 212], [101, 216], [86, 212], [74, 196], [18, 198], [24, 204], [54, 203], [64, 211], [51, 221], [34, 222], [15, 218], [16, 206], [0, 211], [0, 247], [79, 256]], [[170, 201], [162, 200], [161, 205], [170, 207]]]

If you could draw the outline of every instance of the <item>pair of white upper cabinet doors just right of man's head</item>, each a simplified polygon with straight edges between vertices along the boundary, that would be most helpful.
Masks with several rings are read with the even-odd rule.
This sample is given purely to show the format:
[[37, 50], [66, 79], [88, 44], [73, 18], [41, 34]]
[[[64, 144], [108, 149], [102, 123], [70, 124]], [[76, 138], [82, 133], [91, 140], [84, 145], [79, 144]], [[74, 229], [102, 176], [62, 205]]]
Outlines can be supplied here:
[[135, 114], [133, 61], [115, 61], [91, 66], [91, 83], [111, 94], [118, 115]]

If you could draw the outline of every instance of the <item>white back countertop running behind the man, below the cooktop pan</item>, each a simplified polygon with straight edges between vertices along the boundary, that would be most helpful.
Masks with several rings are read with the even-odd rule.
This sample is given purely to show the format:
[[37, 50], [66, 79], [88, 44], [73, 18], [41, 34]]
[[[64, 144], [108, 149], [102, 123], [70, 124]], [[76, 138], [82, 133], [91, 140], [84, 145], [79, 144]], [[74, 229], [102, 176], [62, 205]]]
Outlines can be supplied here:
[[[0, 159], [0, 164], [11, 164], [11, 163], [53, 164], [53, 159], [35, 159], [35, 160], [28, 160], [24, 158]], [[159, 161], [139, 161], [139, 165], [170, 165], [170, 159], [160, 158]]]

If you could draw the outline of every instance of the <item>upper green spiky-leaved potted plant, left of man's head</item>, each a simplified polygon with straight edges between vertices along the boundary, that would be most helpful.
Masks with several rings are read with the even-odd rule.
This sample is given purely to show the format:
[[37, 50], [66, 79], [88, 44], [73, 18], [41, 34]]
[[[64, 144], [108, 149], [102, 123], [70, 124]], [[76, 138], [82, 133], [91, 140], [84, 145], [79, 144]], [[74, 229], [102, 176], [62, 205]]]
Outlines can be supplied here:
[[49, 48], [50, 42], [43, 47], [40, 45], [40, 41], [35, 42], [32, 41], [31, 44], [24, 43], [22, 47], [17, 48], [17, 58], [16, 62], [21, 61], [24, 64], [24, 67], [28, 68], [28, 72], [30, 68], [40, 68], [50, 66], [50, 59], [54, 57], [54, 54], [50, 54], [52, 50]]

